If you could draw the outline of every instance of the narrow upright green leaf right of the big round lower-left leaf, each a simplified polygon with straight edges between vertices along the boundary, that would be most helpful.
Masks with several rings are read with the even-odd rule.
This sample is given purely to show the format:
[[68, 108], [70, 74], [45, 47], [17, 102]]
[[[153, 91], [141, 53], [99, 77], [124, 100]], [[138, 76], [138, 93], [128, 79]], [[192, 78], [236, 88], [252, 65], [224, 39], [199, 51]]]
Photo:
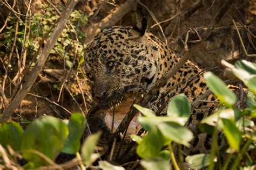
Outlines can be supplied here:
[[82, 114], [72, 114], [68, 128], [69, 136], [66, 140], [66, 143], [62, 149], [62, 152], [75, 154], [79, 151], [80, 148], [80, 139], [85, 130], [85, 118]]

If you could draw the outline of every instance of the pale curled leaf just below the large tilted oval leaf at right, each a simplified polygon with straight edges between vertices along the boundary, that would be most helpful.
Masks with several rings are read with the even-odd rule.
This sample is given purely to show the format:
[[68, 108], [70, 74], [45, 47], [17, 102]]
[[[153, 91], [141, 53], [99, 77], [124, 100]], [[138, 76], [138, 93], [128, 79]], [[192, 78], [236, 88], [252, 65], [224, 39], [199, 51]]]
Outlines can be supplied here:
[[223, 129], [223, 123], [221, 122], [220, 118], [227, 118], [232, 121], [235, 121], [235, 119], [240, 118], [240, 112], [238, 109], [235, 109], [235, 108], [234, 109], [219, 109], [214, 114], [203, 119], [198, 124], [198, 128], [203, 132], [207, 132], [208, 134], [213, 133], [215, 126], [217, 126], [218, 130], [221, 130], [221, 129]]

